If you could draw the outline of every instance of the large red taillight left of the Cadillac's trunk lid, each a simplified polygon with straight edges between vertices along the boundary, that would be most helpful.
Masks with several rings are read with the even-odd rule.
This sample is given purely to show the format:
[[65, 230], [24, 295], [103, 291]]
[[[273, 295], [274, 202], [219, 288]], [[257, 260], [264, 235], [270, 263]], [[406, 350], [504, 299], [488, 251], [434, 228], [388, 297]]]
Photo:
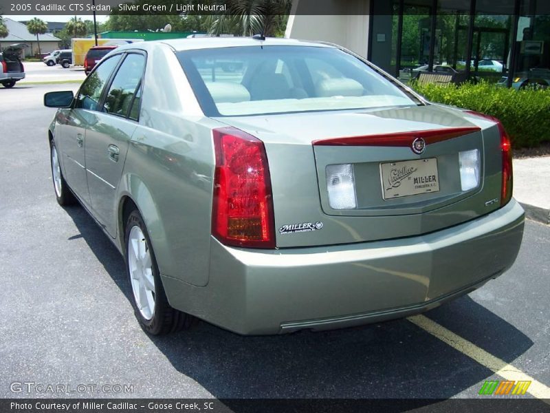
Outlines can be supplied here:
[[275, 248], [273, 195], [261, 140], [214, 129], [212, 235], [226, 245]]

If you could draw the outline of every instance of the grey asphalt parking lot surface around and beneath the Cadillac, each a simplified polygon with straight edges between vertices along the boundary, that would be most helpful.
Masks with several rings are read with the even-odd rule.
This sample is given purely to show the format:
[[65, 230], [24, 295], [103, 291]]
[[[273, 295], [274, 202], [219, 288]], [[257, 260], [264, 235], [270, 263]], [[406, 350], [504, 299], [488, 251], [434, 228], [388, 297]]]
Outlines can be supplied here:
[[550, 226], [531, 221], [507, 273], [413, 319], [276, 337], [201, 323], [149, 337], [118, 251], [54, 197], [54, 109], [42, 97], [77, 87], [0, 87], [1, 397], [52, 396], [10, 390], [32, 381], [133, 385], [59, 396], [475, 398], [487, 380], [527, 377], [532, 391], [517, 397], [550, 399]]

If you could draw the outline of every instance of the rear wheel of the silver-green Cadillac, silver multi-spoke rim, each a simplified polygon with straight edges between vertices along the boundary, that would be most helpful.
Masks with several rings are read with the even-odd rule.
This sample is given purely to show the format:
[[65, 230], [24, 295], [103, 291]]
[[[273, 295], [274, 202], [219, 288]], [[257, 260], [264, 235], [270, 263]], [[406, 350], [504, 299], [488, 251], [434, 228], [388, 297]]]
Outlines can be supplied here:
[[155, 253], [142, 216], [133, 210], [126, 221], [126, 274], [132, 287], [135, 317], [151, 335], [164, 335], [187, 329], [194, 317], [168, 304], [160, 279]]

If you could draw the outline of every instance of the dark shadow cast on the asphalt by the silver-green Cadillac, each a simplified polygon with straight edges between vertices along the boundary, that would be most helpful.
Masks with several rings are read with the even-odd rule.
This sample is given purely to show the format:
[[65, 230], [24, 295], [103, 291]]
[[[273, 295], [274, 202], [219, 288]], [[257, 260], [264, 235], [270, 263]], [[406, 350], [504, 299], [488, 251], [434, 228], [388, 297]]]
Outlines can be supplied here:
[[[84, 209], [66, 211], [131, 300], [115, 246]], [[507, 363], [533, 345], [520, 330], [468, 296], [425, 315]], [[192, 330], [149, 339], [177, 371], [219, 399], [448, 399], [492, 376], [492, 371], [405, 319], [263, 337], [243, 337], [201, 322]], [[470, 392], [473, 396], [478, 389]]]

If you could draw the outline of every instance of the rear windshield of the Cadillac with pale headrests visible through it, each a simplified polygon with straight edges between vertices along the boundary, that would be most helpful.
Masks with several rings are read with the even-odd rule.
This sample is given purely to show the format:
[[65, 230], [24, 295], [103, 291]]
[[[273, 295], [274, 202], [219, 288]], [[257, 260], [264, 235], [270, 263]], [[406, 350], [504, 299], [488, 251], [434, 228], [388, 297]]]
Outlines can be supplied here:
[[420, 103], [360, 59], [335, 48], [222, 47], [177, 55], [206, 116]]

